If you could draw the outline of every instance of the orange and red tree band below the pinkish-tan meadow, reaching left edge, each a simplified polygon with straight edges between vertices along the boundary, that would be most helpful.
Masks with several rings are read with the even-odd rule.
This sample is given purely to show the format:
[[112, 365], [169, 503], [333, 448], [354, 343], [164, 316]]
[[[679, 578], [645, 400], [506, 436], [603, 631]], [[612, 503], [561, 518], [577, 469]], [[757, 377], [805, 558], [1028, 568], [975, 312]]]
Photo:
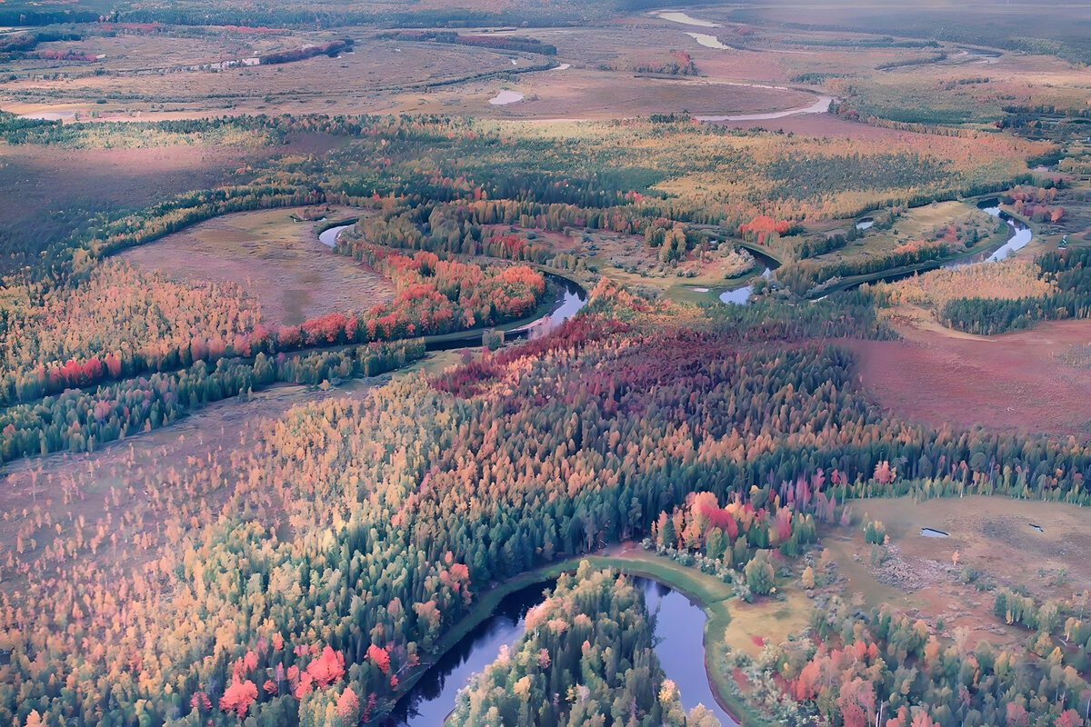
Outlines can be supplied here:
[[546, 293], [544, 278], [525, 266], [482, 268], [373, 245], [357, 252], [393, 280], [393, 301], [275, 331], [236, 287], [180, 284], [127, 264], [93, 266], [36, 303], [32, 291], [19, 291], [26, 299], [0, 304], [0, 404], [197, 361], [497, 325], [530, 315]]

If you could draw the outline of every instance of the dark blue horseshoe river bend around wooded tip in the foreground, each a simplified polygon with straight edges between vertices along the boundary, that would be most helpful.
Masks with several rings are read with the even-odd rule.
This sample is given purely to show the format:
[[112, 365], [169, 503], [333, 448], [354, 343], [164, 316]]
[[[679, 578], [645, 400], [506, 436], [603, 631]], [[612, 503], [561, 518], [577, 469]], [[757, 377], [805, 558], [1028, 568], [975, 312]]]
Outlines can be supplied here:
[[[698, 703], [712, 711], [724, 727], [736, 723], [712, 694], [705, 669], [705, 611], [681, 593], [657, 581], [633, 577], [644, 589], [648, 611], [656, 615], [656, 655], [667, 678], [679, 687], [688, 711]], [[512, 593], [484, 621], [444, 654], [398, 701], [384, 727], [436, 727], [455, 707], [458, 690], [526, 631], [527, 611], [541, 603], [552, 583], [538, 583]]]

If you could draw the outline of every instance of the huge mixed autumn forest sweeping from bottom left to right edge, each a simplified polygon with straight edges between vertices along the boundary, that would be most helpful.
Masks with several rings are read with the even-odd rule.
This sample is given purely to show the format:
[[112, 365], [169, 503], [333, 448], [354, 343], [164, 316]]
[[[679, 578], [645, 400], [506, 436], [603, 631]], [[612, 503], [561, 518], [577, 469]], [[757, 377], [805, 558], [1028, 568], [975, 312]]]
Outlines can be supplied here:
[[[25, 723], [34, 710], [50, 723], [120, 725], [176, 714], [226, 726], [244, 698], [256, 727], [305, 724], [314, 700], [331, 696], [297, 695], [274, 676], [269, 689], [233, 687], [261, 681], [250, 667], [235, 679], [236, 659], [281, 640], [340, 653], [338, 690], [379, 723], [481, 590], [563, 554], [649, 536], [693, 492], [787, 505], [803, 480], [813, 501], [961, 492], [1091, 502], [1091, 450], [1075, 440], [901, 422], [858, 389], [847, 348], [745, 344], [791, 332], [793, 306], [750, 306], [698, 330], [664, 326], [621, 291], [598, 293], [589, 313], [497, 354], [465, 396], [444, 390], [458, 376], [448, 371], [290, 412], [239, 452], [219, 514], [148, 553], [140, 573], [43, 564], [25, 593], [31, 603], [48, 594], [50, 608], [0, 608], [11, 684], [0, 718]], [[806, 326], [859, 325], [823, 303], [813, 307], [827, 326]], [[900, 476], [877, 476], [884, 462]], [[284, 523], [293, 534], [281, 540]], [[51, 585], [58, 577], [64, 587]], [[101, 632], [99, 652], [81, 649]], [[148, 657], [124, 657], [133, 653]], [[259, 668], [275, 669], [262, 658]], [[70, 677], [71, 689], [53, 688]]]

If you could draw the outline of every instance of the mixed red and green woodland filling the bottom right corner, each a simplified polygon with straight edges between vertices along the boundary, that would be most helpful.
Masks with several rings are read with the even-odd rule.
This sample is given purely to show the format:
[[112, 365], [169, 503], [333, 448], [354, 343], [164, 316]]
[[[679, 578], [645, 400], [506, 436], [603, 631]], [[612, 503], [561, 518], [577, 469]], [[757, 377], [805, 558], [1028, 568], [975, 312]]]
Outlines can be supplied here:
[[888, 606], [861, 613], [838, 596], [816, 604], [811, 627], [810, 639], [760, 657], [802, 712], [782, 715], [800, 724], [808, 714], [872, 724], [879, 705], [887, 727], [1083, 724], [1075, 707], [1087, 702], [1089, 684], [1059, 646], [1039, 658], [986, 639], [970, 649], [964, 634], [948, 645], [921, 620]]

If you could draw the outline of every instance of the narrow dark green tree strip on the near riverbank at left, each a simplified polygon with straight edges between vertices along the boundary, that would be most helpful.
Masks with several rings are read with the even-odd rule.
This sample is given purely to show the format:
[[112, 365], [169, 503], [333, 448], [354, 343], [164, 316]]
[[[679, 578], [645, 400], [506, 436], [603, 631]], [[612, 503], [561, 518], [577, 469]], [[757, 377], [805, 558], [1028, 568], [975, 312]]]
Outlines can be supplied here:
[[97, 447], [170, 424], [207, 403], [275, 383], [317, 385], [377, 376], [424, 355], [424, 341], [353, 346], [288, 356], [259, 353], [252, 361], [197, 361], [189, 368], [98, 386], [0, 410], [0, 462]]

